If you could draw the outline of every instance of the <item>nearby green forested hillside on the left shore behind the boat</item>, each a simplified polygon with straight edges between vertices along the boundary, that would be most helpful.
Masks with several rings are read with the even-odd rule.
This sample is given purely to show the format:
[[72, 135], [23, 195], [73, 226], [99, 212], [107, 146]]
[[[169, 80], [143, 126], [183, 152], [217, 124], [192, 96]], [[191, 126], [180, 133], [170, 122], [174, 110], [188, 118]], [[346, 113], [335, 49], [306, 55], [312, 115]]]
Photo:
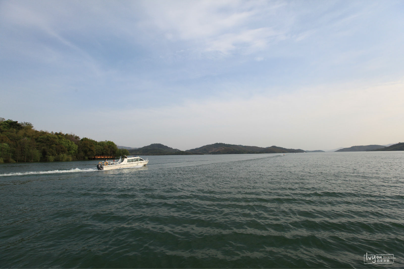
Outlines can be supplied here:
[[32, 123], [0, 118], [0, 163], [86, 160], [128, 154], [112, 141], [97, 142], [69, 133], [37, 131]]

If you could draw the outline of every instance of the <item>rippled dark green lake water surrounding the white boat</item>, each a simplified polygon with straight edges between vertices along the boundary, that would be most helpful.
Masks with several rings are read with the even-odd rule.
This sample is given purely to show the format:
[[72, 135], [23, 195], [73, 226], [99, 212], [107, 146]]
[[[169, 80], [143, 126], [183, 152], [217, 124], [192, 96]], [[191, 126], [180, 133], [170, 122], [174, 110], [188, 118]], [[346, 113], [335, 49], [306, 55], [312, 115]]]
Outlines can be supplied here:
[[148, 158], [0, 164], [0, 267], [404, 267], [404, 152]]

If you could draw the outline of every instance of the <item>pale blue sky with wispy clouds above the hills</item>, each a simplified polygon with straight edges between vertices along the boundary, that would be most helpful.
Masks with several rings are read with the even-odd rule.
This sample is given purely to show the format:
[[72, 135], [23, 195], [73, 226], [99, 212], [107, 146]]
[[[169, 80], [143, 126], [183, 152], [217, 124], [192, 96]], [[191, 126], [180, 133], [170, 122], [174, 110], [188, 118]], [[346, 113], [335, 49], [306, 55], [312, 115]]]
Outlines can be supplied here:
[[0, 117], [120, 146], [404, 142], [403, 1], [0, 1]]

